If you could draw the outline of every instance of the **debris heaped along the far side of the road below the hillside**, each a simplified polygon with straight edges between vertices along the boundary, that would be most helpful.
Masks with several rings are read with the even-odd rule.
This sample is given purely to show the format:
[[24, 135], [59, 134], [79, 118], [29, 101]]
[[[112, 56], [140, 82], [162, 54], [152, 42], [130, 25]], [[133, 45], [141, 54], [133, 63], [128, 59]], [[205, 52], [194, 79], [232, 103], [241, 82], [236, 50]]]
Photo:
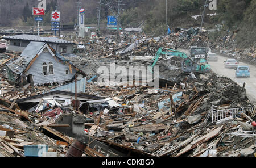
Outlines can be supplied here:
[[216, 40], [209, 40], [209, 32], [203, 31], [199, 34], [195, 28], [186, 31], [171, 33], [170, 37], [163, 39], [166, 43], [177, 44], [179, 48], [187, 48], [190, 46], [209, 47], [214, 52], [224, 54], [229, 58], [256, 65], [256, 49], [255, 46], [247, 49], [236, 48], [236, 31], [230, 35], [226, 33], [224, 36], [217, 37]]

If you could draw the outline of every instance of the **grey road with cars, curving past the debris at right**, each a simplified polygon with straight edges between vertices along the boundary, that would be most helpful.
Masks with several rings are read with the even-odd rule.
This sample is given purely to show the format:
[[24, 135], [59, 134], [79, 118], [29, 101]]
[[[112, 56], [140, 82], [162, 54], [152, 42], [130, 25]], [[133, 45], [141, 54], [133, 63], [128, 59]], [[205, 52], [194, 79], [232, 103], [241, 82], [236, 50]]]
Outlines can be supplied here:
[[[188, 50], [183, 49], [185, 53], [188, 53]], [[224, 61], [227, 59], [227, 57], [223, 57], [218, 55], [218, 62], [209, 62], [213, 72], [215, 72], [220, 77], [228, 77], [232, 79], [233, 81], [237, 82], [241, 87], [243, 86], [243, 83], [245, 82], [245, 89], [246, 89], [246, 95], [250, 99], [251, 103], [256, 105], [256, 67], [253, 65], [249, 65], [251, 77], [250, 78], [236, 78], [234, 69], [225, 69], [224, 68]], [[239, 62], [238, 65], [247, 65], [244, 62]]]

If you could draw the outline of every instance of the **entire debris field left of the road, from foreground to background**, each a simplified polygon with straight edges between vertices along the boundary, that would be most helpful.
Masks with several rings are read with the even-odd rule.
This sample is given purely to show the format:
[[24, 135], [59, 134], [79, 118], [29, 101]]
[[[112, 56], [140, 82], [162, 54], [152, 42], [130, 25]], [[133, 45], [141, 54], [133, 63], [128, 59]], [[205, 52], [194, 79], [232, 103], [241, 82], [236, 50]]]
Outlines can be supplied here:
[[148, 66], [151, 59], [130, 61], [129, 56], [152, 57], [159, 47], [207, 44], [205, 33], [197, 33], [187, 30], [181, 36], [185, 42], [175, 33], [91, 43], [84, 53], [65, 57], [87, 78], [63, 85], [11, 84], [5, 64], [19, 56], [5, 55], [0, 63], [5, 72], [0, 77], [0, 156], [253, 156], [256, 108], [245, 84], [240, 87], [213, 72], [184, 75], [173, 62], [171, 69], [159, 69], [158, 89], [137, 79], [127, 86], [96, 82], [98, 67], [110, 68], [110, 62]]

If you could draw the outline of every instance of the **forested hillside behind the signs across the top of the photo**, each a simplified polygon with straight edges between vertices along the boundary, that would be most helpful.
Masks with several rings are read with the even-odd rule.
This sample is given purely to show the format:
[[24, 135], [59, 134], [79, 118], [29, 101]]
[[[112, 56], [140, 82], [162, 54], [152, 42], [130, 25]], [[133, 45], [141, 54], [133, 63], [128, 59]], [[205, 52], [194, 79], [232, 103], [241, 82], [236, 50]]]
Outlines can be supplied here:
[[[100, 0], [80, 0], [86, 10], [86, 24], [97, 23], [97, 7]], [[32, 7], [38, 6], [37, 0], [0, 0], [0, 26], [33, 25]], [[77, 22], [77, 0], [46, 0], [47, 9], [44, 24], [51, 22], [51, 11], [59, 6], [61, 23]], [[101, 0], [101, 22], [106, 16], [116, 14], [118, 0]], [[110, 3], [108, 6], [107, 3]], [[205, 0], [167, 0], [168, 24], [174, 27], [199, 27], [201, 17], [193, 19], [193, 15], [201, 15]], [[112, 7], [110, 10], [109, 7]], [[207, 14], [214, 14], [207, 16]], [[123, 0], [121, 2], [122, 27], [138, 27], [144, 23], [144, 32], [159, 36], [166, 32], [166, 0]], [[206, 8], [204, 27], [214, 28], [223, 24], [223, 30], [239, 30], [238, 45], [251, 45], [256, 39], [256, 0], [217, 0], [217, 10]]]

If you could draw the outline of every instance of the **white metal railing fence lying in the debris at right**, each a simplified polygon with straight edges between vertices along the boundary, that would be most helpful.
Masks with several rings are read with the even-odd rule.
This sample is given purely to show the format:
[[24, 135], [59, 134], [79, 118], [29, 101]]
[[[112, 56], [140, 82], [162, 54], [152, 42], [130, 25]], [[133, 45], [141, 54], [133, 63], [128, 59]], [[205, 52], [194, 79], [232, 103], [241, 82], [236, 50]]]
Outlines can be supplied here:
[[241, 108], [229, 108], [229, 109], [222, 109], [216, 110], [212, 106], [212, 123], [218, 120], [225, 119], [227, 117], [235, 117], [236, 115], [240, 114], [241, 112], [249, 111], [250, 114], [253, 114], [255, 107], [241, 107]]

